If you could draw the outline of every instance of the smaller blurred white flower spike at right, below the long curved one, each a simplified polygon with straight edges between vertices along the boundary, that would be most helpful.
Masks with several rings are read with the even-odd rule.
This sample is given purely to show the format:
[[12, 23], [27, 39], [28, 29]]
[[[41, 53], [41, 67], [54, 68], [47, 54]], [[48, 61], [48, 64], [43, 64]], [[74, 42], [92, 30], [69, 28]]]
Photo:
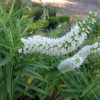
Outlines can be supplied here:
[[87, 45], [83, 47], [78, 53], [76, 53], [73, 57], [68, 58], [62, 61], [58, 69], [61, 73], [68, 72], [73, 70], [74, 68], [79, 68], [82, 65], [83, 61], [87, 58], [88, 55], [91, 53], [98, 53], [100, 52], [100, 43], [96, 42], [93, 45]]

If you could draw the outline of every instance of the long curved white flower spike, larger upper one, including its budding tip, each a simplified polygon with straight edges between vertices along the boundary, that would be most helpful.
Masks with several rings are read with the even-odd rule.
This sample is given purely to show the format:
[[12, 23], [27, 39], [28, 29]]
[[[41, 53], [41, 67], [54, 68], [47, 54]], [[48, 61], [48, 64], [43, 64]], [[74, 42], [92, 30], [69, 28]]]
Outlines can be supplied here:
[[94, 20], [91, 17], [86, 18], [82, 23], [76, 23], [71, 31], [61, 38], [53, 39], [39, 35], [28, 37], [27, 39], [21, 38], [24, 47], [19, 49], [18, 52], [23, 52], [24, 54], [41, 53], [50, 56], [68, 54], [84, 43], [85, 39], [87, 39], [87, 34], [92, 30], [87, 24], [90, 25], [92, 23], [94, 23]]

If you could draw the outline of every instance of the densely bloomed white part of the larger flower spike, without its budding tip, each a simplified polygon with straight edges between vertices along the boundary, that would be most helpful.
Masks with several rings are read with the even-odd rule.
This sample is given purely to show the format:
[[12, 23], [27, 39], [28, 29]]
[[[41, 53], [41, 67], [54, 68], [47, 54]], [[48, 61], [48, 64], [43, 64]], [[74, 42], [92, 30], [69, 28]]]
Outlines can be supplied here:
[[[78, 46], [80, 46], [86, 39], [86, 37], [83, 36], [85, 35], [85, 33], [82, 33], [82, 35], [80, 36], [78, 35], [78, 29], [79, 26], [78, 24], [76, 24], [76, 26], [73, 29], [71, 29], [71, 32], [68, 32], [68, 34], [56, 39], [41, 36], [28, 37], [27, 39], [22, 38], [21, 41], [24, 43], [24, 54], [37, 52], [46, 55], [65, 55], [66, 53], [72, 52]], [[72, 39], [72, 37], [75, 37], [74, 39], [77, 40], [77, 42], [75, 42]], [[69, 43], [71, 44], [70, 46], [68, 46]], [[68, 46], [68, 50], [62, 50], [64, 46]], [[59, 48], [59, 52], [55, 50], [55, 47]]]

